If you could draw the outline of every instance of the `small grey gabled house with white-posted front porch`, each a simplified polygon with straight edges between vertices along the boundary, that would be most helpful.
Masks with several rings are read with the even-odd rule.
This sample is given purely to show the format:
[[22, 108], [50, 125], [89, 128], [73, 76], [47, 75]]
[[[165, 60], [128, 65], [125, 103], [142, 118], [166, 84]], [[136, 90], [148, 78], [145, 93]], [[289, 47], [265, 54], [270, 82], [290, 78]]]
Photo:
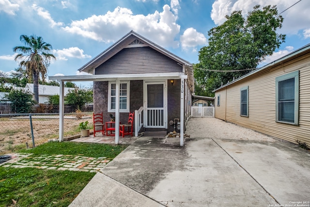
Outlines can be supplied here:
[[[115, 128], [128, 121], [129, 111], [137, 111], [136, 129], [167, 130], [170, 120], [178, 118], [183, 145], [194, 93], [192, 64], [131, 31], [79, 71], [92, 75], [49, 77], [49, 80], [60, 81], [62, 87], [64, 81], [93, 81], [94, 112], [103, 112], [104, 122], [110, 120], [110, 113], [115, 114]], [[63, 92], [60, 94], [63, 96]], [[60, 104], [63, 109], [63, 100]], [[63, 139], [63, 120], [59, 139]], [[118, 130], [115, 143], [119, 143]]]

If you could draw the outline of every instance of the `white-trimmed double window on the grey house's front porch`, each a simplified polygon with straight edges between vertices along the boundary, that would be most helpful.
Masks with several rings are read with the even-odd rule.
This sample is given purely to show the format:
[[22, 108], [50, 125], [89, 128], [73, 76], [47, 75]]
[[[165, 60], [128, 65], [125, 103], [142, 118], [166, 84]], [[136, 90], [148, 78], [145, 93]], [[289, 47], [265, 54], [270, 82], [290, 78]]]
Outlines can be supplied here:
[[[120, 82], [120, 112], [129, 112], [130, 81]], [[108, 112], [115, 112], [116, 82], [109, 81]]]

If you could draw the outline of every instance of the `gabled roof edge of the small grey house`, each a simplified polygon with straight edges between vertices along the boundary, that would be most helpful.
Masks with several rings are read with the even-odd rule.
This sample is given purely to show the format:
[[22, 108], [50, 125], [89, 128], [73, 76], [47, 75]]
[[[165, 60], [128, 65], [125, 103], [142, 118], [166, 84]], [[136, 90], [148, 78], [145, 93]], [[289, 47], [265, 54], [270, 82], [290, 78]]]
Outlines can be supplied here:
[[145, 45], [149, 46], [150, 48], [153, 48], [156, 51], [166, 55], [169, 58], [171, 58], [172, 60], [178, 62], [179, 64], [184, 65], [185, 66], [185, 74], [187, 75], [190, 86], [192, 86], [191, 90], [192, 90], [192, 92], [194, 92], [194, 73], [193, 73], [192, 64], [187, 62], [186, 60], [174, 55], [170, 51], [156, 45], [152, 41], [142, 37], [140, 34], [134, 32], [134, 31], [130, 31], [129, 33], [127, 33], [124, 37], [122, 37], [120, 40], [115, 42], [109, 48], [107, 48], [102, 53], [100, 53], [99, 55], [94, 57], [93, 60], [91, 60], [87, 64], [83, 65], [78, 70], [80, 72], [93, 73], [93, 70], [96, 67], [98, 67], [99, 65], [108, 61], [116, 53], [121, 51], [123, 48], [128, 47], [128, 45], [130, 45], [134, 41], [139, 42], [140, 44], [145, 44]]

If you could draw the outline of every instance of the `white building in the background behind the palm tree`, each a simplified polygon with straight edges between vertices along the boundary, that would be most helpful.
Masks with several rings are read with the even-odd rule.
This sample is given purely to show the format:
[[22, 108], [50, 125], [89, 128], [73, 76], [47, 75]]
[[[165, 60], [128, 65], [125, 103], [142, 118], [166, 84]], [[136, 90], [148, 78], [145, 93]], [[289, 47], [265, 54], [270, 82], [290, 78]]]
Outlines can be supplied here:
[[[29, 91], [33, 94], [33, 83], [27, 83], [25, 88], [14, 87], [15, 89], [22, 89]], [[69, 90], [74, 90], [74, 88], [64, 87], [64, 96], [66, 96]], [[59, 95], [59, 86], [52, 85], [41, 85], [39, 84], [39, 103], [48, 103], [48, 98], [50, 96]]]

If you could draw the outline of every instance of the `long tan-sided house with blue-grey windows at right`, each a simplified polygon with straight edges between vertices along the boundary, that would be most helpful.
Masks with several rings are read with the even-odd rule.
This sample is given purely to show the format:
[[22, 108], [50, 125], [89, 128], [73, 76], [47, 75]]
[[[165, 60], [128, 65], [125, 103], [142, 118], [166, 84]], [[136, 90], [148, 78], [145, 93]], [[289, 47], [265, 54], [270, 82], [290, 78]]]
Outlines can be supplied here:
[[310, 44], [214, 92], [216, 118], [310, 145]]

